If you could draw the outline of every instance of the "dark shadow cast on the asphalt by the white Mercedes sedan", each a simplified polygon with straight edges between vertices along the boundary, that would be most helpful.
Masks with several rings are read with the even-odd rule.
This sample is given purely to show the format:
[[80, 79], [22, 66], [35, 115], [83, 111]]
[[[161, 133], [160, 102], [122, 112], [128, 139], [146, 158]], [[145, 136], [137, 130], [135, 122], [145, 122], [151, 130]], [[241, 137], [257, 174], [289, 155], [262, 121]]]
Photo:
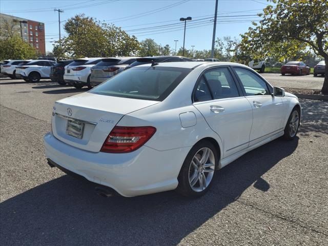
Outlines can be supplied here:
[[297, 146], [298, 138], [279, 138], [245, 154], [218, 171], [211, 190], [197, 199], [173, 191], [103, 198], [95, 194], [92, 183], [64, 175], [0, 204], [1, 241], [3, 245], [176, 245], [250, 186], [259, 193], [268, 191], [270, 184], [262, 175]]

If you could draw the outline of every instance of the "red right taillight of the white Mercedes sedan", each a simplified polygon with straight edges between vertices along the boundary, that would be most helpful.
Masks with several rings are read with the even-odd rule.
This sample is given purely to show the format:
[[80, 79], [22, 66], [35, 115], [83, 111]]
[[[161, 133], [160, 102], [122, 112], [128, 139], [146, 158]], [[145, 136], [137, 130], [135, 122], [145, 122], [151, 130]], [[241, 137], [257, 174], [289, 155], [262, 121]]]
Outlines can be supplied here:
[[114, 127], [101, 152], [128, 153], [139, 149], [156, 132], [154, 127]]

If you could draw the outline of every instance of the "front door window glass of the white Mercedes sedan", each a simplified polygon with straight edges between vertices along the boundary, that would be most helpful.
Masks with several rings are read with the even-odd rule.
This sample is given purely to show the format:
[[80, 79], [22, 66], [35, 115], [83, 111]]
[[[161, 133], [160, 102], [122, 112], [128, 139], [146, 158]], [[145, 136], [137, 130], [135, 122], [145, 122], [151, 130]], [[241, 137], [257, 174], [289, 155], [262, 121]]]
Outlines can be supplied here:
[[270, 95], [267, 83], [255, 73], [244, 68], [234, 68], [247, 96]]

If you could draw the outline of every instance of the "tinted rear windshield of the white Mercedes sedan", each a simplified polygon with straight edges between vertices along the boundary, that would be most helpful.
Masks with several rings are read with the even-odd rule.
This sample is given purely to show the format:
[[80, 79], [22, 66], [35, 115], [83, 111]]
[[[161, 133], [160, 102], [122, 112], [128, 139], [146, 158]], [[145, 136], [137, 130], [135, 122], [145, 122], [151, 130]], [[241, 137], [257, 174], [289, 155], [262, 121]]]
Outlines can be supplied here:
[[164, 100], [191, 69], [136, 67], [108, 79], [90, 93], [144, 100]]

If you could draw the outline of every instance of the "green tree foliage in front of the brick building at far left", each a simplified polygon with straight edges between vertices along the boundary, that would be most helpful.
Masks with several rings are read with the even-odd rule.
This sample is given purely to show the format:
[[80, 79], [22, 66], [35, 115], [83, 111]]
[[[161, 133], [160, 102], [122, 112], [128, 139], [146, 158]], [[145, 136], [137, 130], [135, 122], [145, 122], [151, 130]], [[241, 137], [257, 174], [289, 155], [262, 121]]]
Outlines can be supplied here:
[[34, 59], [36, 57], [36, 50], [24, 42], [19, 35], [0, 39], [0, 60]]

